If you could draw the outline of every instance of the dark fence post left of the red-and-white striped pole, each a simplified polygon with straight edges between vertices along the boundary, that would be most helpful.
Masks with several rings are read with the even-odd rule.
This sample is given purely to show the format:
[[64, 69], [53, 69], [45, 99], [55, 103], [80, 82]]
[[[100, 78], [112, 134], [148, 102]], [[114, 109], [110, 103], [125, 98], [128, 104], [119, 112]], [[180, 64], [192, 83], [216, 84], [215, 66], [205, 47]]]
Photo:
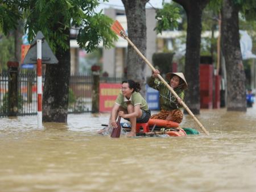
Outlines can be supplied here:
[[18, 113], [18, 67], [19, 62], [8, 61], [8, 116]]

